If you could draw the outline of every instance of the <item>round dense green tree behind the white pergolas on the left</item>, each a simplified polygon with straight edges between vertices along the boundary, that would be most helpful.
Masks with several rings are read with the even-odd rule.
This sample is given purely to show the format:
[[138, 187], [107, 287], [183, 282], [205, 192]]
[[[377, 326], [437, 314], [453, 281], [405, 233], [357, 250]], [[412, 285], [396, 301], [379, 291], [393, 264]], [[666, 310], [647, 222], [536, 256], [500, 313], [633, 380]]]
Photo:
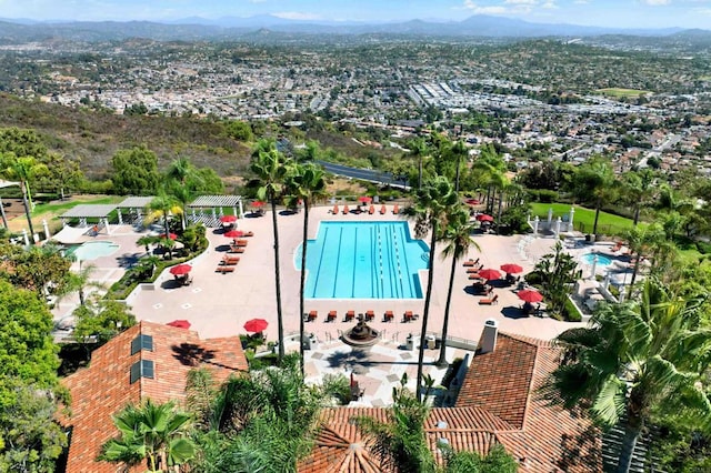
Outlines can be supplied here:
[[146, 147], [119, 150], [111, 159], [113, 191], [124, 195], [152, 195], [160, 175], [158, 158]]

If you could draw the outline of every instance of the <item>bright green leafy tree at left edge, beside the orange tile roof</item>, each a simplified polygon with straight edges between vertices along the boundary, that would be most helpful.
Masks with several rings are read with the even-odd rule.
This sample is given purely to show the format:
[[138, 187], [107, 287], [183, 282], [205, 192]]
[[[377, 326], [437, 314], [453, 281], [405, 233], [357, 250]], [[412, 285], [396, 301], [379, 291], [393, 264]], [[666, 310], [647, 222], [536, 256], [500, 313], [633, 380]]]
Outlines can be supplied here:
[[37, 294], [0, 280], [0, 471], [53, 471], [67, 442], [52, 315]]

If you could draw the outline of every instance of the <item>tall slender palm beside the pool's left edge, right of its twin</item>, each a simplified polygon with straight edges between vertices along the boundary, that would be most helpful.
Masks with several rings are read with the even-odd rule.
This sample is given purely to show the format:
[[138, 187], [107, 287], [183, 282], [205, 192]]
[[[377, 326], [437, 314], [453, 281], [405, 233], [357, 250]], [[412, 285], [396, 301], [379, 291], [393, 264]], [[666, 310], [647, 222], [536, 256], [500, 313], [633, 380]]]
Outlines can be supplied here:
[[[324, 198], [326, 180], [323, 169], [313, 163], [296, 164], [291, 167], [288, 175], [288, 192], [297, 200], [303, 201], [303, 232], [301, 236], [301, 282], [299, 289], [299, 313], [304, 310], [304, 289], [307, 281], [307, 243], [309, 238], [309, 210], [314, 199]], [[303, 316], [299, 318], [299, 354], [301, 355], [301, 376], [303, 376]]]

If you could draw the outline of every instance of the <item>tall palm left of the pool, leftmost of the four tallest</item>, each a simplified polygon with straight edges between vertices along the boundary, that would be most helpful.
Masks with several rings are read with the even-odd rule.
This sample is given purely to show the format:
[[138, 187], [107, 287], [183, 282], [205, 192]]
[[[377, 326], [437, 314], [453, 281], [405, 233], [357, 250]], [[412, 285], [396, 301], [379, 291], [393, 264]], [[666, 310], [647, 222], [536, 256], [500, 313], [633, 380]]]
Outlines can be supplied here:
[[[272, 142], [273, 144], [273, 142]], [[277, 285], [277, 325], [279, 331], [279, 360], [284, 356], [284, 323], [281, 309], [281, 273], [279, 268], [279, 227], [277, 224], [277, 199], [281, 197], [287, 174], [287, 159], [276, 145], [260, 140], [259, 152], [252, 157], [250, 169], [260, 181], [257, 195], [271, 204], [272, 229], [274, 231], [274, 284]], [[262, 150], [266, 149], [267, 151]], [[303, 314], [299, 314], [303, 316]]]

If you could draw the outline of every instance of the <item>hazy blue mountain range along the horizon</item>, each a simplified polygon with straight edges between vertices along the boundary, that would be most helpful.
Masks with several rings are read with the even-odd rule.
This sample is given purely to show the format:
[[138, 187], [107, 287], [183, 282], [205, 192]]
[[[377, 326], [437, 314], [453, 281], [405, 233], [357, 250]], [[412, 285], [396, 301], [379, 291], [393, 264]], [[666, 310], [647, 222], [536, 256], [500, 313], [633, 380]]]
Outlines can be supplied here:
[[[32, 20], [0, 20], [0, 43], [47, 39], [76, 41], [106, 41], [128, 38], [167, 40], [240, 39], [254, 31], [294, 34], [398, 34], [428, 37], [593, 37], [601, 34], [630, 34], [667, 37], [684, 32], [680, 28], [619, 29], [582, 27], [577, 24], [531, 23], [523, 20], [473, 16], [462, 21], [411, 20], [393, 23], [317, 22], [291, 20], [273, 16], [249, 18], [223, 17], [209, 20], [200, 17], [172, 22], [100, 21], [100, 22], [32, 22]], [[694, 37], [711, 37], [711, 31], [693, 30]]]

